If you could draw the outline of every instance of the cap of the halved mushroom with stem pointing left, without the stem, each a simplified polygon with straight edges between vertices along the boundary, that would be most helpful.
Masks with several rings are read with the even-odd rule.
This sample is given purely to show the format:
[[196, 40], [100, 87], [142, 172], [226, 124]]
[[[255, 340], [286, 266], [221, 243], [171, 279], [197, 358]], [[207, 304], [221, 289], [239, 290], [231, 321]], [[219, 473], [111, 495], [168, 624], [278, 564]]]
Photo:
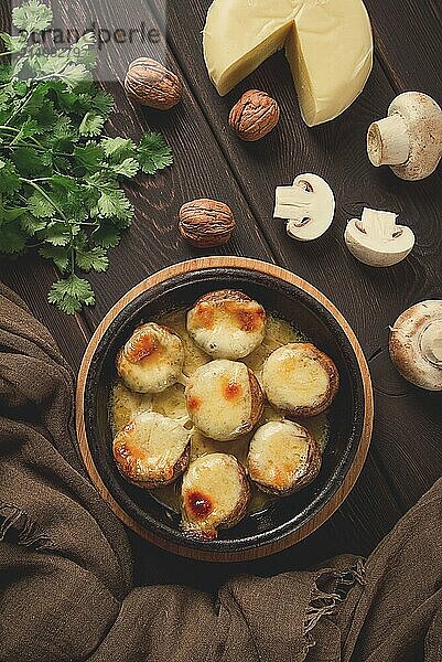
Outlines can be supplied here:
[[[335, 196], [325, 180], [308, 172], [293, 182], [299, 191], [297, 217], [289, 217], [287, 233], [300, 242], [311, 242], [322, 236], [332, 225], [335, 214]], [[278, 213], [276, 213], [279, 216]]]

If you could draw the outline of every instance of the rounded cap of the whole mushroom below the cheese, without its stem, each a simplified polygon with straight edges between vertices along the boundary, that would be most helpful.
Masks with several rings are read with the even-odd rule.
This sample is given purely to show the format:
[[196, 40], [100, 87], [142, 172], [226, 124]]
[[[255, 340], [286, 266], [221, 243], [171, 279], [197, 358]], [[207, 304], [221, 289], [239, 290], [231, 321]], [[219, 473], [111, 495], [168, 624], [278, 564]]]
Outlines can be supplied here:
[[434, 172], [442, 156], [442, 109], [422, 92], [405, 92], [388, 108], [389, 116], [395, 113], [407, 122], [410, 153], [406, 163], [390, 168], [405, 180], [424, 179]]

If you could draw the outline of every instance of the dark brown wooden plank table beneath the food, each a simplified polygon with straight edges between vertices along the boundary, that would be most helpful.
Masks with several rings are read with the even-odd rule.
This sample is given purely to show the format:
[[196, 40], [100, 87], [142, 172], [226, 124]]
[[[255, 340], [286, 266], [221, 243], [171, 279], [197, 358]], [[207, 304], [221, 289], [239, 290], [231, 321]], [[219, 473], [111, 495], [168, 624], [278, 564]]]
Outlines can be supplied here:
[[[176, 231], [177, 211], [195, 197], [214, 197], [231, 206], [235, 237], [214, 253], [244, 255], [277, 263], [320, 288], [353, 325], [369, 360], [376, 397], [376, 423], [365, 469], [339, 511], [295, 547], [244, 565], [211, 565], [180, 559], [132, 536], [139, 581], [187, 583], [208, 590], [236, 573], [274, 574], [305, 567], [337, 553], [369, 554], [419, 496], [441, 474], [442, 395], [419, 391], [390, 364], [388, 327], [418, 301], [442, 298], [442, 169], [419, 183], [402, 182], [388, 168], [375, 169], [365, 152], [368, 125], [385, 117], [399, 92], [417, 89], [442, 99], [441, 0], [366, 0], [376, 57], [364, 94], [338, 119], [308, 129], [293, 95], [288, 64], [277, 54], [227, 97], [211, 85], [202, 56], [201, 32], [211, 0], [151, 0], [116, 9], [115, 0], [52, 2], [58, 23], [82, 25], [98, 17], [119, 26], [159, 25], [158, 44], [125, 44], [123, 67], [116, 53], [101, 52], [101, 67], [116, 77], [130, 60], [149, 55], [173, 68], [185, 84], [183, 103], [166, 114], [132, 106], [121, 85], [106, 84], [116, 98], [110, 135], [139, 137], [161, 130], [173, 147], [175, 164], [131, 188], [136, 220], [111, 253], [107, 274], [93, 276], [95, 308], [67, 318], [46, 302], [54, 268], [36, 257], [0, 258], [0, 279], [28, 302], [56, 338], [74, 370], [94, 329], [129, 288], [155, 270], [202, 252], [190, 248]], [[125, 9], [126, 8], [126, 9]], [[165, 30], [163, 18], [165, 15]], [[8, 24], [3, 3], [2, 26]], [[227, 128], [230, 106], [248, 88], [265, 89], [282, 108], [278, 129], [259, 143], [244, 143]], [[337, 197], [334, 224], [311, 244], [285, 236], [272, 218], [274, 188], [295, 174], [316, 172]], [[412, 255], [389, 269], [371, 269], [353, 259], [343, 234], [348, 218], [363, 206], [391, 210], [412, 227]], [[207, 253], [208, 254], [208, 253]]]

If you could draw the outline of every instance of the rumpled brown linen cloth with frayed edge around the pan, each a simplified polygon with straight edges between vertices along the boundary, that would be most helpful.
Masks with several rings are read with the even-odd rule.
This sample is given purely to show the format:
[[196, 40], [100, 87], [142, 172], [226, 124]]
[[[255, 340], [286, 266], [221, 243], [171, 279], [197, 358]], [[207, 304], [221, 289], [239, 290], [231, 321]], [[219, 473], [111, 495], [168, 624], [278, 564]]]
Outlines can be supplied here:
[[442, 661], [442, 481], [364, 564], [132, 587], [122, 526], [76, 452], [74, 380], [0, 285], [1, 662]]

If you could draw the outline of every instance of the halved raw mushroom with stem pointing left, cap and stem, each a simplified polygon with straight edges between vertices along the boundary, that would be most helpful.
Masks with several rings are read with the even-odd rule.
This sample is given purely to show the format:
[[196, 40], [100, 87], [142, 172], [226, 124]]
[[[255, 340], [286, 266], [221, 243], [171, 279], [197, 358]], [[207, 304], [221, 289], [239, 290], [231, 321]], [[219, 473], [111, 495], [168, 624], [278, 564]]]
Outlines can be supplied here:
[[287, 233], [299, 242], [321, 237], [332, 225], [335, 196], [317, 174], [300, 174], [292, 186], [278, 186], [273, 216], [287, 218]]

